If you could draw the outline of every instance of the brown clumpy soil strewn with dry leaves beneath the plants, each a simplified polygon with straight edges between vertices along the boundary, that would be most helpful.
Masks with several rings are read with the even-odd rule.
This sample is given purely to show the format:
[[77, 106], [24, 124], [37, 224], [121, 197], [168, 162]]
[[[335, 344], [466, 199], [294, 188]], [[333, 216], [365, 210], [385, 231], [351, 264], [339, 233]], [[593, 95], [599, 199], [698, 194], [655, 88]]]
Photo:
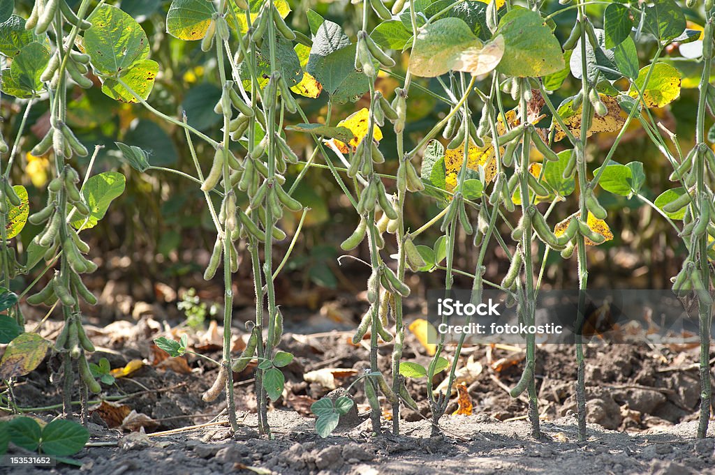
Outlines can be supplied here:
[[[692, 346], [589, 346], [589, 425], [588, 441], [583, 443], [578, 442], [573, 416], [573, 347], [556, 345], [537, 349], [541, 440], [531, 438], [531, 429], [523, 420], [526, 399], [512, 399], [507, 393], [521, 375], [524, 356], [523, 349], [508, 346], [465, 349], [458, 367], [471, 370], [465, 385], [473, 414], [449, 415], [457, 409], [456, 402], [450, 404], [448, 415], [440, 421], [443, 436], [430, 437], [425, 381], [413, 379], [408, 381], [408, 389], [418, 401], [420, 414], [403, 408], [400, 436], [388, 432], [392, 422], [386, 419], [385, 432], [372, 434], [368, 406], [363, 404], [361, 385], [356, 384], [350, 394], [357, 404], [358, 418], [352, 423], [344, 421], [332, 436], [321, 439], [315, 434], [310, 404], [333, 388], [325, 382], [305, 381], [304, 375], [341, 369], [333, 373], [335, 386], [345, 387], [368, 361], [367, 341], [358, 346], [348, 343], [352, 336], [349, 329], [359, 318], [360, 306], [354, 301], [342, 302], [327, 310], [324, 307], [319, 316], [316, 312], [287, 316], [291, 324], [280, 349], [295, 354], [295, 361], [284, 368], [286, 390], [268, 414], [275, 436], [269, 440], [257, 436], [252, 366], [234, 375], [242, 425], [237, 434], [231, 434], [221, 412], [224, 395], [212, 403], [201, 400], [202, 391], [215, 379], [215, 367], [190, 354], [183, 361], [162, 359], [165, 355], [152, 348], [152, 339], [157, 336], [178, 339], [186, 331], [192, 349], [218, 359], [220, 347], [215, 345], [215, 336], [222, 329], [193, 331], [180, 326], [159, 306], [135, 304], [134, 309], [137, 307], [143, 310], [132, 311], [133, 318], [111, 324], [97, 320], [87, 325], [87, 334], [97, 346], [92, 361], [105, 357], [113, 369], [137, 359], [144, 364], [118, 378], [115, 385], [103, 385], [102, 397], [115, 401], [112, 407], [118, 407], [121, 415], [114, 414], [107, 403], [100, 406], [95, 401], [92, 405], [92, 439], [74, 456], [82, 463], [81, 473], [715, 474], [715, 423], [711, 423], [708, 439], [694, 437], [699, 381], [694, 365], [697, 349]], [[413, 309], [408, 323], [418, 313]], [[251, 318], [250, 308], [237, 312], [236, 335], [247, 334], [243, 317]], [[34, 326], [32, 321], [27, 325], [28, 329]], [[46, 321], [40, 333], [54, 339], [59, 329], [58, 322]], [[236, 352], [241, 345], [238, 338]], [[392, 344], [380, 345], [380, 369], [385, 374], [390, 373], [391, 352]], [[425, 347], [409, 331], [403, 359], [420, 364], [429, 361]], [[56, 410], [29, 408], [61, 401], [60, 375], [56, 372], [60, 367], [56, 356], [50, 356], [17, 384], [16, 399], [29, 415], [47, 421], [56, 416]], [[390, 416], [388, 404], [383, 404], [383, 409], [383, 415]], [[136, 411], [134, 419], [122, 419], [129, 411]], [[176, 432], [165, 433], [172, 429]], [[14, 447], [11, 451], [21, 453]], [[53, 469], [0, 468], [0, 474], [69, 474], [77, 470], [66, 465]]]

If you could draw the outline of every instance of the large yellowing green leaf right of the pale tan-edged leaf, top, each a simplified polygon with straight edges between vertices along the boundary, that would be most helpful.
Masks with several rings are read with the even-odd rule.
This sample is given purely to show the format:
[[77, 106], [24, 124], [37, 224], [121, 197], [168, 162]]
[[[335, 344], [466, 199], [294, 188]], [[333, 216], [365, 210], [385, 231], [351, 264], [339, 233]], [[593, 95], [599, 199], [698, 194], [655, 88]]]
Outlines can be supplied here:
[[507, 76], [546, 76], [564, 67], [561, 44], [536, 11], [515, 6], [499, 21], [507, 54], [497, 71]]

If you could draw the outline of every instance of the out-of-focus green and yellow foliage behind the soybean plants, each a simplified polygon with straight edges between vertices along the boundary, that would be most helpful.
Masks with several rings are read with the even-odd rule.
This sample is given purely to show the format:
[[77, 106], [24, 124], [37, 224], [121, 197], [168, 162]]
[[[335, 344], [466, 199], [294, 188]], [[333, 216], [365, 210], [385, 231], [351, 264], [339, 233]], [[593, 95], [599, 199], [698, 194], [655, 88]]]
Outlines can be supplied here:
[[[427, 1], [430, 0], [417, 0]], [[441, 0], [445, 1], [445, 0]], [[477, 0], [468, 0], [477, 1]], [[31, 0], [16, 0], [16, 13], [26, 17], [31, 9]], [[78, 0], [69, 0], [75, 6]], [[114, 2], [112, 2], [114, 3]], [[199, 41], [180, 41], [172, 38], [165, 31], [166, 12], [169, 0], [122, 0], [117, 2], [127, 13], [134, 16], [149, 36], [152, 46], [151, 57], [158, 61], [159, 75], [156, 79], [154, 91], [149, 102], [159, 111], [169, 116], [181, 117], [185, 111], [189, 124], [204, 131], [214, 138], [220, 137], [220, 117], [214, 114], [213, 104], [220, 97], [217, 86], [217, 64], [215, 59], [203, 54], [199, 48]], [[326, 19], [335, 21], [345, 30], [345, 33], [355, 37], [360, 22], [360, 9], [351, 6], [347, 0], [318, 1], [318, 0], [290, 0], [292, 13], [287, 21], [297, 31], [310, 36], [307, 26], [306, 12], [309, 9], [317, 11]], [[599, 19], [603, 18], [603, 4], [588, 6], [588, 15], [594, 19], [596, 26], [600, 26]], [[564, 8], [558, 2], [548, 2], [546, 9]], [[701, 27], [703, 19], [696, 11], [685, 9], [689, 20], [689, 28]], [[554, 16], [556, 21], [556, 34], [563, 41], [568, 36], [576, 18], [576, 10], [571, 9], [563, 14]], [[376, 23], [375, 23], [376, 24]], [[371, 25], [371, 27], [375, 26]], [[637, 45], [641, 65], [647, 64], [656, 49], [654, 41], [643, 39]], [[690, 47], [690, 46], [689, 46]], [[680, 51], [679, 45], [674, 44], [666, 51], [666, 61], [671, 62], [683, 74], [683, 89], [681, 98], [671, 106], [656, 109], [655, 114], [671, 131], [676, 132], [684, 150], [690, 149], [694, 143], [694, 124], [696, 111], [696, 84], [699, 82], [700, 66], [696, 61], [686, 60], [687, 51]], [[401, 56], [398, 67], [394, 71], [404, 71], [408, 65], [408, 54]], [[402, 68], [400, 69], [400, 65]], [[393, 97], [395, 87], [403, 84], [400, 73], [380, 74], [378, 89], [388, 98]], [[95, 79], [96, 84], [99, 81]], [[406, 129], [406, 149], [410, 149], [423, 136], [424, 131], [430, 129], [447, 112], [448, 106], [435, 96], [442, 95], [443, 90], [436, 80], [417, 79], [415, 87], [410, 89], [408, 100], [408, 125]], [[480, 82], [480, 87], [488, 87], [488, 82]], [[563, 99], [578, 91], [581, 84], [568, 74], [558, 91], [551, 100], [560, 104]], [[192, 286], [200, 281], [203, 266], [207, 260], [207, 249], [213, 244], [215, 231], [212, 229], [206, 207], [203, 204], [202, 194], [188, 181], [175, 174], [152, 170], [140, 174], [122, 161], [115, 141], [128, 145], [139, 146], [149, 154], [152, 166], [170, 166], [189, 174], [194, 173], [191, 157], [189, 155], [184, 132], [172, 124], [167, 124], [155, 118], [140, 104], [122, 104], [102, 94], [99, 87], [84, 90], [75, 88], [72, 91], [71, 104], [69, 105], [69, 125], [76, 131], [79, 138], [89, 149], [94, 145], [104, 148], [100, 151], [94, 173], [110, 169], [120, 169], [127, 175], [127, 191], [112, 204], [110, 219], [102, 221], [92, 234], [94, 243], [93, 252], [100, 259], [111, 261], [112, 256], [119, 259], [128, 256], [131, 264], [119, 259], [116, 266], [108, 266], [111, 274], [114, 267], [121, 268], [121, 273], [111, 274], [107, 279], [126, 279], [130, 282], [129, 289], [137, 292], [144, 289], [146, 298], [152, 299], [152, 282], [162, 281], [174, 288], [179, 286]], [[472, 96], [473, 98], [475, 95]], [[300, 98], [302, 106], [311, 122], [325, 121], [327, 112], [327, 95], [322, 94], [318, 99]], [[475, 100], [475, 99], [473, 99]], [[513, 107], [513, 101], [505, 95], [505, 106]], [[14, 101], [9, 96], [3, 96], [1, 101], [1, 115], [8, 122], [4, 125], [6, 137], [11, 139], [16, 134], [24, 110], [24, 104]], [[356, 104], [335, 104], [332, 110], [332, 123], [344, 119], [363, 106], [368, 101], [360, 99]], [[475, 101], [472, 106], [475, 113], [474, 121], [478, 121], [478, 111], [481, 104]], [[550, 121], [544, 119], [546, 126]], [[285, 124], [301, 122], [298, 116], [287, 116]], [[29, 133], [24, 137], [21, 150], [21, 166], [14, 170], [13, 182], [24, 184], [28, 187], [31, 196], [31, 207], [39, 206], [44, 200], [46, 182], [51, 176], [50, 161], [43, 157], [31, 156], [29, 151], [36, 141], [44, 135], [49, 126], [47, 103], [39, 102], [31, 109], [29, 114]], [[384, 139], [380, 149], [385, 154], [386, 162], [381, 170], [383, 173], [394, 173], [397, 169], [395, 156], [395, 135], [389, 126], [383, 127]], [[610, 147], [615, 134], [598, 134], [591, 139], [591, 149], [588, 150], [589, 169], [595, 169], [603, 161], [603, 156]], [[310, 136], [305, 134], [288, 134], [290, 144], [302, 159], [307, 159], [312, 153], [315, 144]], [[441, 138], [440, 138], [441, 139]], [[202, 165], [208, 167], [213, 150], [204, 144], [196, 142], [197, 153]], [[244, 151], [238, 144], [235, 152], [242, 154]], [[558, 151], [559, 146], [556, 146]], [[335, 157], [332, 157], [333, 159]], [[665, 189], [671, 188], [667, 176], [669, 164], [659, 151], [651, 144], [642, 131], [640, 125], [634, 121], [631, 130], [621, 142], [614, 159], [620, 163], [628, 161], [642, 161], [646, 171], [646, 185], [643, 194], [653, 200]], [[317, 163], [325, 163], [319, 155]], [[86, 169], [87, 161], [80, 161], [77, 165]], [[292, 166], [287, 172], [287, 178], [295, 177], [299, 171], [298, 166]], [[389, 189], [389, 187], [388, 187]], [[553, 214], [553, 223], [561, 220], [577, 209], [577, 194], [573, 194], [566, 202], [556, 206]], [[314, 288], [342, 289], [349, 291], [362, 290], [360, 284], [367, 267], [360, 266], [354, 261], [346, 262], [345, 266], [338, 266], [336, 258], [339, 253], [339, 244], [355, 224], [358, 216], [342, 196], [339, 187], [333, 181], [330, 172], [325, 169], [313, 169], [303, 179], [296, 191], [296, 197], [304, 206], [309, 206], [302, 236], [297, 241], [290, 264], [284, 271], [290, 285], [298, 289]], [[666, 222], [648, 206], [644, 206], [636, 197], [626, 199], [613, 194], [602, 193], [599, 195], [601, 202], [611, 210], [608, 224], [611, 226], [615, 239], [590, 249], [593, 257], [589, 259], [590, 276], [589, 284], [593, 286], [621, 286], [633, 288], [666, 288], [669, 286], [667, 279], [676, 272], [681, 257], [679, 239]], [[34, 205], [34, 206], [33, 206]], [[417, 229], [430, 217], [439, 211], [439, 204], [428, 196], [410, 196], [405, 211], [405, 224], [410, 229]], [[290, 234], [297, 225], [300, 216], [287, 216], [283, 223], [284, 229]], [[475, 219], [476, 216], [473, 216]], [[516, 218], [512, 221], [516, 221]], [[550, 219], [551, 221], [551, 219]], [[553, 224], [552, 223], [552, 224]], [[21, 234], [20, 245], [26, 246], [27, 241], [34, 236], [35, 229], [28, 224], [28, 231]], [[502, 230], [505, 235], [507, 230]], [[418, 244], [431, 246], [438, 236], [438, 229], [433, 232], [421, 234]], [[278, 243], [279, 253], [285, 251], [290, 239]], [[388, 239], [388, 249], [392, 253], [394, 240]], [[542, 249], [543, 250], [543, 249]], [[366, 249], [358, 249], [358, 254]], [[457, 248], [458, 269], [473, 271], [476, 250], [471, 244], [471, 238], [461, 236]], [[247, 259], [245, 260], [247, 264]], [[491, 249], [486, 260], [488, 264], [487, 276], [500, 276], [506, 270], [508, 261], [504, 259], [500, 249]], [[111, 264], [111, 263], [110, 263]], [[248, 265], [242, 266], [242, 273], [237, 280], [245, 276], [245, 290], [250, 299], [250, 269]], [[563, 261], [558, 253], [552, 253], [547, 264], [545, 286], [570, 288], [576, 285], [575, 259]], [[100, 267], [101, 268], [101, 267]], [[358, 274], [357, 279], [354, 274]], [[440, 271], [433, 275], [422, 275], [420, 279], [427, 279], [428, 286], [440, 286], [443, 276]], [[192, 279], [187, 281], [187, 276]], [[285, 279], [285, 277], [284, 277]], [[414, 282], [413, 282], [414, 283]], [[460, 284], [458, 280], [457, 285]], [[464, 281], [470, 285], [470, 281]], [[206, 286], [206, 284], [199, 284]], [[239, 283], [239, 291], [244, 284]], [[358, 289], [355, 288], [358, 286]], [[317, 304], [319, 298], [312, 298], [309, 306]]]

